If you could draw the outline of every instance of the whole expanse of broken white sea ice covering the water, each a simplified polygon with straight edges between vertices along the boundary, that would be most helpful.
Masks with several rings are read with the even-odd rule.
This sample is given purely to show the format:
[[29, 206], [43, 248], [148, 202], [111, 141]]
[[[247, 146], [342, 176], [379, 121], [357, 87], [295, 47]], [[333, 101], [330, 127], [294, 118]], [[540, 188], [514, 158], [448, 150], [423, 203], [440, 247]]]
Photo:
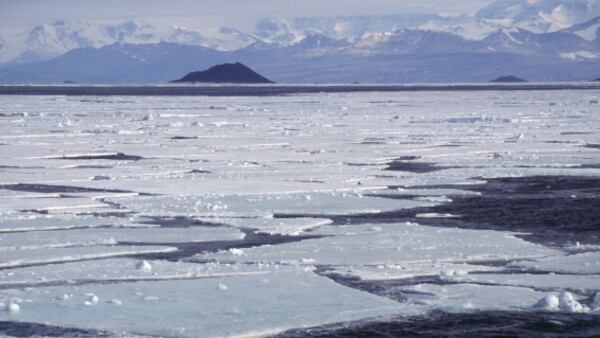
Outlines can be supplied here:
[[[249, 337], [431, 310], [600, 311], [600, 243], [428, 226], [461, 215], [318, 217], [448, 203], [486, 178], [600, 176], [599, 100], [0, 96], [0, 321]], [[410, 156], [448, 168], [384, 170]], [[456, 188], [411, 188], [434, 184]], [[382, 295], [333, 276], [406, 283]]]

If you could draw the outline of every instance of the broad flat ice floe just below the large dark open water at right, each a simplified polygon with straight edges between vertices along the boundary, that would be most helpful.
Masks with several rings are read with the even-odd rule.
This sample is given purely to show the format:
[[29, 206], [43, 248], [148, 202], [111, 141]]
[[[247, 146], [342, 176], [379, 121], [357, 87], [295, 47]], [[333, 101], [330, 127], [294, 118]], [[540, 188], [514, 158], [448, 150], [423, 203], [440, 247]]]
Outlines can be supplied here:
[[[298, 265], [374, 265], [418, 262], [505, 261], [559, 252], [496, 231], [441, 229], [414, 223], [322, 227], [328, 237], [244, 250], [199, 254], [192, 259], [281, 262]], [[333, 235], [333, 236], [332, 236]]]

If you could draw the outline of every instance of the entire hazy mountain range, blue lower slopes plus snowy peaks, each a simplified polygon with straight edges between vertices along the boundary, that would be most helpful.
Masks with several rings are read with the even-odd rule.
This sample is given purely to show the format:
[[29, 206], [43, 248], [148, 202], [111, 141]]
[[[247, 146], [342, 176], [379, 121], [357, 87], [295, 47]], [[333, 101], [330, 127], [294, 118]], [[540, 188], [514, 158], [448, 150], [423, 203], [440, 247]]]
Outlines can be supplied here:
[[0, 37], [0, 82], [166, 82], [242, 62], [276, 82], [487, 82], [600, 76], [600, 0], [501, 0], [473, 16], [264, 19], [198, 32], [58, 21]]

